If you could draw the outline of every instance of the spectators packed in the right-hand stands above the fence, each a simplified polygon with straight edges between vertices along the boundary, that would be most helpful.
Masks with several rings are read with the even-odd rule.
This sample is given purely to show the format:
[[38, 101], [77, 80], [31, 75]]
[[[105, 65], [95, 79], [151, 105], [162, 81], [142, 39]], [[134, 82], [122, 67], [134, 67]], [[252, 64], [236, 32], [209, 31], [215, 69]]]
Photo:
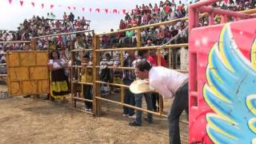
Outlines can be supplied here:
[[[225, 10], [249, 10], [255, 8], [255, 2], [252, 0], [230, 0], [227, 3], [224, 1], [215, 2], [214, 7]], [[190, 2], [191, 3], [191, 2]], [[158, 22], [165, 22], [177, 18], [188, 16], [188, 5], [182, 1], [174, 2], [174, 0], [160, 1], [149, 5], [136, 5], [130, 13], [126, 13], [125, 17], [119, 22], [119, 29], [123, 30], [134, 26], [144, 26]], [[215, 23], [220, 22], [220, 17], [216, 16]], [[209, 23], [208, 17], [199, 19], [200, 26], [207, 26]], [[171, 26], [150, 27], [141, 30], [142, 46], [146, 45], [146, 40], [150, 39], [154, 45], [162, 45], [173, 38], [171, 43], [183, 43], [188, 40], [188, 31], [186, 26], [188, 22], [177, 22]], [[111, 30], [114, 31], [114, 30]], [[177, 34], [179, 36], [174, 38]], [[137, 31], [130, 30], [124, 33], [103, 35], [102, 47], [111, 46], [135, 46]]]

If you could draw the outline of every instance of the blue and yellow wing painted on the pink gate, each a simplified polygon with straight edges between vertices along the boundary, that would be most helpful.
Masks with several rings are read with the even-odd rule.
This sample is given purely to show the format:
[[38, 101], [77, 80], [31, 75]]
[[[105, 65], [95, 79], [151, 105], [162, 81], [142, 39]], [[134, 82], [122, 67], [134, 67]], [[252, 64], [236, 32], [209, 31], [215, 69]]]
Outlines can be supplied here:
[[208, 62], [203, 97], [216, 114], [206, 114], [207, 134], [214, 143], [256, 143], [256, 69], [234, 42], [230, 23]]

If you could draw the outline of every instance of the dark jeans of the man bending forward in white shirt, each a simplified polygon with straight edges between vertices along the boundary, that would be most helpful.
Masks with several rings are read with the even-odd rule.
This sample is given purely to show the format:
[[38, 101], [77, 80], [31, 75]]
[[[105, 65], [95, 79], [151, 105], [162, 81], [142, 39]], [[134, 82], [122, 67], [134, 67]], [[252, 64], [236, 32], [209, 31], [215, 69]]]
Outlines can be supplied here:
[[179, 134], [179, 117], [183, 110], [189, 114], [188, 110], [188, 83], [180, 87], [174, 94], [174, 102], [171, 105], [170, 113], [167, 116], [169, 126], [169, 140], [170, 144], [180, 144]]

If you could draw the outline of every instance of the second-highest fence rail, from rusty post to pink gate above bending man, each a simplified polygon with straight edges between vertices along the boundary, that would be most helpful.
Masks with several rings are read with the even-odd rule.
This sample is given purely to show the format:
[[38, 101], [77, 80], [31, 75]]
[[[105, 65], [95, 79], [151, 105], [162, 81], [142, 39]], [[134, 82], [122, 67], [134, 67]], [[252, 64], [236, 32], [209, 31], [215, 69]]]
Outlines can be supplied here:
[[188, 47], [188, 43], [165, 45], [165, 46], [143, 46], [143, 47], [126, 47], [126, 48], [114, 48], [114, 49], [99, 49], [95, 51], [122, 51], [122, 50], [155, 50], [155, 49], [171, 49]]

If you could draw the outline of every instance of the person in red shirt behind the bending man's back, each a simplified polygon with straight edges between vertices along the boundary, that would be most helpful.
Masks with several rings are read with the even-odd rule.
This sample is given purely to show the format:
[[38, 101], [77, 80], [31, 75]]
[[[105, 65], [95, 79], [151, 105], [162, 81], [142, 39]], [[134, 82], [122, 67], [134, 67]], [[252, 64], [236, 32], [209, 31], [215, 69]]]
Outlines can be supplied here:
[[[151, 40], [147, 40], [147, 46], [152, 46]], [[156, 53], [156, 50], [150, 50], [150, 56], [147, 57], [147, 61], [152, 64], [152, 66], [158, 66], [158, 55]], [[161, 66], [166, 67], [166, 60], [161, 56]], [[152, 104], [153, 104], [153, 110], [158, 111], [159, 110], [159, 94], [158, 93], [152, 93]], [[158, 106], [156, 106], [156, 103], [158, 101]], [[163, 106], [163, 103], [162, 103]]]

